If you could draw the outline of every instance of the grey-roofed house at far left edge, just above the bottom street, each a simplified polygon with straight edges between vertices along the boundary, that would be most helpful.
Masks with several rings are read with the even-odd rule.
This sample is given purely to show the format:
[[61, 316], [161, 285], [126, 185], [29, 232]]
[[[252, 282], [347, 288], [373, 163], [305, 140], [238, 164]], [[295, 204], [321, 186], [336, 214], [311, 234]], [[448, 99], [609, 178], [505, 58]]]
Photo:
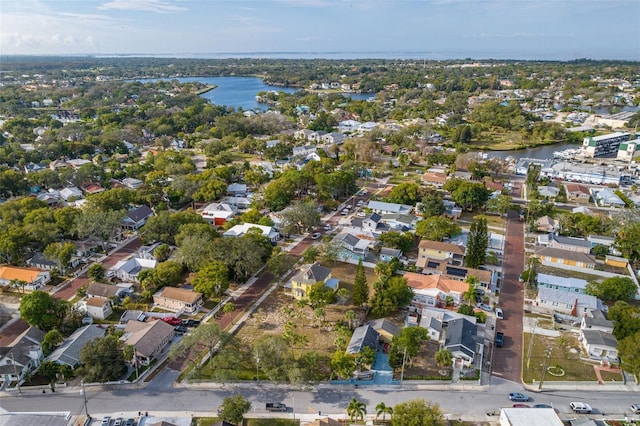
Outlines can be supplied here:
[[29, 327], [8, 346], [0, 347], [0, 382], [3, 383], [0, 388], [4, 384], [21, 382], [40, 367], [44, 335], [39, 328]]

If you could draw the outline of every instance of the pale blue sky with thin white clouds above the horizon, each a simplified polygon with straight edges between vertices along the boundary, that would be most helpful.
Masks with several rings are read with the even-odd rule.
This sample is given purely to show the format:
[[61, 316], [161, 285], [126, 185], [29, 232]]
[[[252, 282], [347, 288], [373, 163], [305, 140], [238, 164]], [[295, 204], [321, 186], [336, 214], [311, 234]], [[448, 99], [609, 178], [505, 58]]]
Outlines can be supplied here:
[[0, 0], [0, 54], [640, 60], [640, 0]]

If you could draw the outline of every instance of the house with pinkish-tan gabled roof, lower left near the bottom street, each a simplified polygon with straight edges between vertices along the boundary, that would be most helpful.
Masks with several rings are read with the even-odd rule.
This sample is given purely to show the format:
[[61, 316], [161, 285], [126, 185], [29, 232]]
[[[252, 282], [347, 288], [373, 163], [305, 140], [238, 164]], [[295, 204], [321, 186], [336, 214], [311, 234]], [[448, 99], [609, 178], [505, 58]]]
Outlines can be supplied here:
[[149, 365], [171, 342], [175, 331], [164, 321], [129, 321], [121, 340], [135, 349], [136, 363]]

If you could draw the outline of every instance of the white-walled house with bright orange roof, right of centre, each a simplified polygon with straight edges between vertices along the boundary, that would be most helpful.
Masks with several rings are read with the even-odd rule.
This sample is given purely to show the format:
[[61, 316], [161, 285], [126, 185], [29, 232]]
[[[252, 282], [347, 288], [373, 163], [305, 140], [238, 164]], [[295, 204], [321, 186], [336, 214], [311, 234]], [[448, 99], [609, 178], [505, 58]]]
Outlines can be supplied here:
[[463, 295], [469, 290], [469, 284], [452, 280], [443, 275], [423, 275], [415, 272], [404, 274], [407, 285], [415, 294], [412, 304], [420, 309], [425, 306], [442, 307], [447, 299], [455, 305], [462, 303]]

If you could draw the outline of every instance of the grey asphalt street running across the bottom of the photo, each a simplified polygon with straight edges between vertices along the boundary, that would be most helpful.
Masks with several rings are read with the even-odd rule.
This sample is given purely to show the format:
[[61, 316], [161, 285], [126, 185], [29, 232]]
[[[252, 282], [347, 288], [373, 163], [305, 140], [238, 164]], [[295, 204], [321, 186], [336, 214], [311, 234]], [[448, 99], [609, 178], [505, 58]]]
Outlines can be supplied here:
[[[163, 372], [164, 373], [164, 372]], [[165, 382], [175, 375], [167, 373]], [[106, 387], [87, 387], [88, 410], [90, 414], [113, 414], [119, 412], [154, 412], [200, 411], [214, 412], [220, 406], [222, 399], [232, 394], [242, 394], [252, 402], [252, 412], [264, 412], [264, 404], [269, 401], [284, 402], [294, 407], [297, 413], [344, 414], [348, 401], [355, 397], [367, 405], [369, 412], [375, 412], [374, 407], [384, 402], [395, 405], [411, 399], [423, 398], [440, 405], [445, 413], [452, 413], [455, 417], [482, 421], [487, 420], [485, 413], [499, 407], [510, 407], [512, 403], [507, 399], [508, 392], [522, 391], [522, 387], [511, 382], [494, 379], [496, 383], [487, 389], [468, 391], [449, 390], [417, 390], [399, 389], [368, 389], [332, 385], [320, 385], [308, 390], [291, 390], [276, 385], [248, 383], [246, 385], [225, 385], [223, 388], [181, 389], [166, 387], [148, 387], [146, 389], [135, 385]], [[23, 388], [24, 389], [24, 388]], [[618, 414], [628, 413], [628, 407], [637, 403], [637, 396], [631, 392], [544, 392], [540, 394], [528, 393], [534, 400], [531, 403], [552, 404], [561, 415], [568, 415], [569, 402], [580, 400], [591, 404], [597, 412]], [[78, 388], [58, 390], [55, 394], [43, 395], [40, 391], [23, 390], [22, 395], [12, 394], [3, 396], [0, 406], [10, 411], [70, 411], [72, 414], [83, 412], [83, 399]], [[571, 414], [571, 417], [580, 417]], [[598, 418], [598, 416], [595, 416]], [[636, 416], [639, 417], [639, 416]], [[496, 418], [492, 418], [493, 421]]]

